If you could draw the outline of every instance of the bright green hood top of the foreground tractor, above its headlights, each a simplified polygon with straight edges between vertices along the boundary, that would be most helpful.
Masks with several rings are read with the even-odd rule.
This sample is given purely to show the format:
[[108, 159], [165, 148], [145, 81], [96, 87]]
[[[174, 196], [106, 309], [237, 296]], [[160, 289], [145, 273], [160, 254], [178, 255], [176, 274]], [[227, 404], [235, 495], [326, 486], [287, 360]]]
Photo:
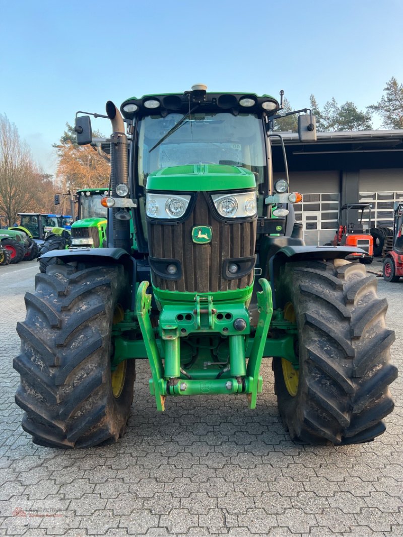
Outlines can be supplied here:
[[253, 172], [222, 164], [170, 166], [147, 177], [147, 190], [212, 192], [256, 188]]

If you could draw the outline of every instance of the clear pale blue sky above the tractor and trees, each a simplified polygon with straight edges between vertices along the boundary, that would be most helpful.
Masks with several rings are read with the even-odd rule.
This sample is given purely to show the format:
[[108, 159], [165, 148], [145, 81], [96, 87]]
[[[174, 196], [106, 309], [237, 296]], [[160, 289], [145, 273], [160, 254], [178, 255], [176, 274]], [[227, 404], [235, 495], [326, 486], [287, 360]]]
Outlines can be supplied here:
[[47, 173], [66, 122], [109, 99], [202, 82], [365, 110], [403, 82], [403, 0], [0, 0], [0, 14], [0, 113]]

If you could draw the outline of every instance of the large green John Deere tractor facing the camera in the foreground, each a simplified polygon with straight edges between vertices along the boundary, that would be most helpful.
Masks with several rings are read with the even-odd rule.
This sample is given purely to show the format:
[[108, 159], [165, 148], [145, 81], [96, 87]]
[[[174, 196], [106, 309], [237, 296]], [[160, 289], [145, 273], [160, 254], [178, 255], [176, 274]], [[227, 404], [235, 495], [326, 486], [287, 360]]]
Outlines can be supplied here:
[[[197, 85], [133, 97], [120, 111], [107, 102], [105, 247], [45, 254], [60, 264], [37, 274], [17, 325], [16, 402], [35, 443], [118, 440], [135, 360], [149, 362], [158, 411], [205, 395], [254, 409], [270, 357], [292, 439], [351, 444], [383, 433], [397, 376], [387, 304], [356, 248], [304, 245], [285, 158], [285, 178], [272, 178], [273, 139], [285, 155], [272, 130], [282, 101]], [[312, 113], [297, 112], [300, 140], [315, 141]], [[75, 132], [91, 143], [89, 115], [77, 114]]]

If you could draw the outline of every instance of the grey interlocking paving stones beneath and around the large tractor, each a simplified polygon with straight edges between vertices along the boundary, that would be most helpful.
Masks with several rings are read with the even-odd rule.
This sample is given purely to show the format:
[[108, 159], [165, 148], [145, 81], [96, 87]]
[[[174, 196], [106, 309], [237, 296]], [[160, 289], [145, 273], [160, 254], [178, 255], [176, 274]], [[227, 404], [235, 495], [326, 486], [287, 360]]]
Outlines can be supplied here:
[[[23, 295], [38, 269], [35, 262], [17, 267], [18, 277], [0, 271], [0, 535], [403, 535], [401, 378], [382, 437], [311, 447], [285, 434], [268, 364], [256, 411], [243, 398], [178, 398], [159, 415], [143, 362], [119, 444], [34, 446], [20, 427], [11, 361]], [[393, 358], [402, 371], [403, 281], [379, 279], [379, 294], [390, 303]]]

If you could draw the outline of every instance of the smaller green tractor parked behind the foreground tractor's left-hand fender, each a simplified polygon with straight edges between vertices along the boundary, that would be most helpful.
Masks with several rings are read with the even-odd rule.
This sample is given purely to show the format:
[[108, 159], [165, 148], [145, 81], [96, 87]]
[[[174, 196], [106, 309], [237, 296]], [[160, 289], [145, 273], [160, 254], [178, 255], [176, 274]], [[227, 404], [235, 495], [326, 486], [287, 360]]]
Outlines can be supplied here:
[[[107, 209], [100, 204], [100, 200], [108, 193], [107, 188], [83, 188], [77, 191], [77, 220], [71, 223], [68, 236], [49, 234], [46, 237], [40, 250], [40, 272], [45, 273], [48, 266], [61, 263], [57, 257], [42, 257], [47, 252], [65, 248], [103, 248], [106, 241]], [[55, 194], [55, 205], [59, 204], [60, 194]]]

